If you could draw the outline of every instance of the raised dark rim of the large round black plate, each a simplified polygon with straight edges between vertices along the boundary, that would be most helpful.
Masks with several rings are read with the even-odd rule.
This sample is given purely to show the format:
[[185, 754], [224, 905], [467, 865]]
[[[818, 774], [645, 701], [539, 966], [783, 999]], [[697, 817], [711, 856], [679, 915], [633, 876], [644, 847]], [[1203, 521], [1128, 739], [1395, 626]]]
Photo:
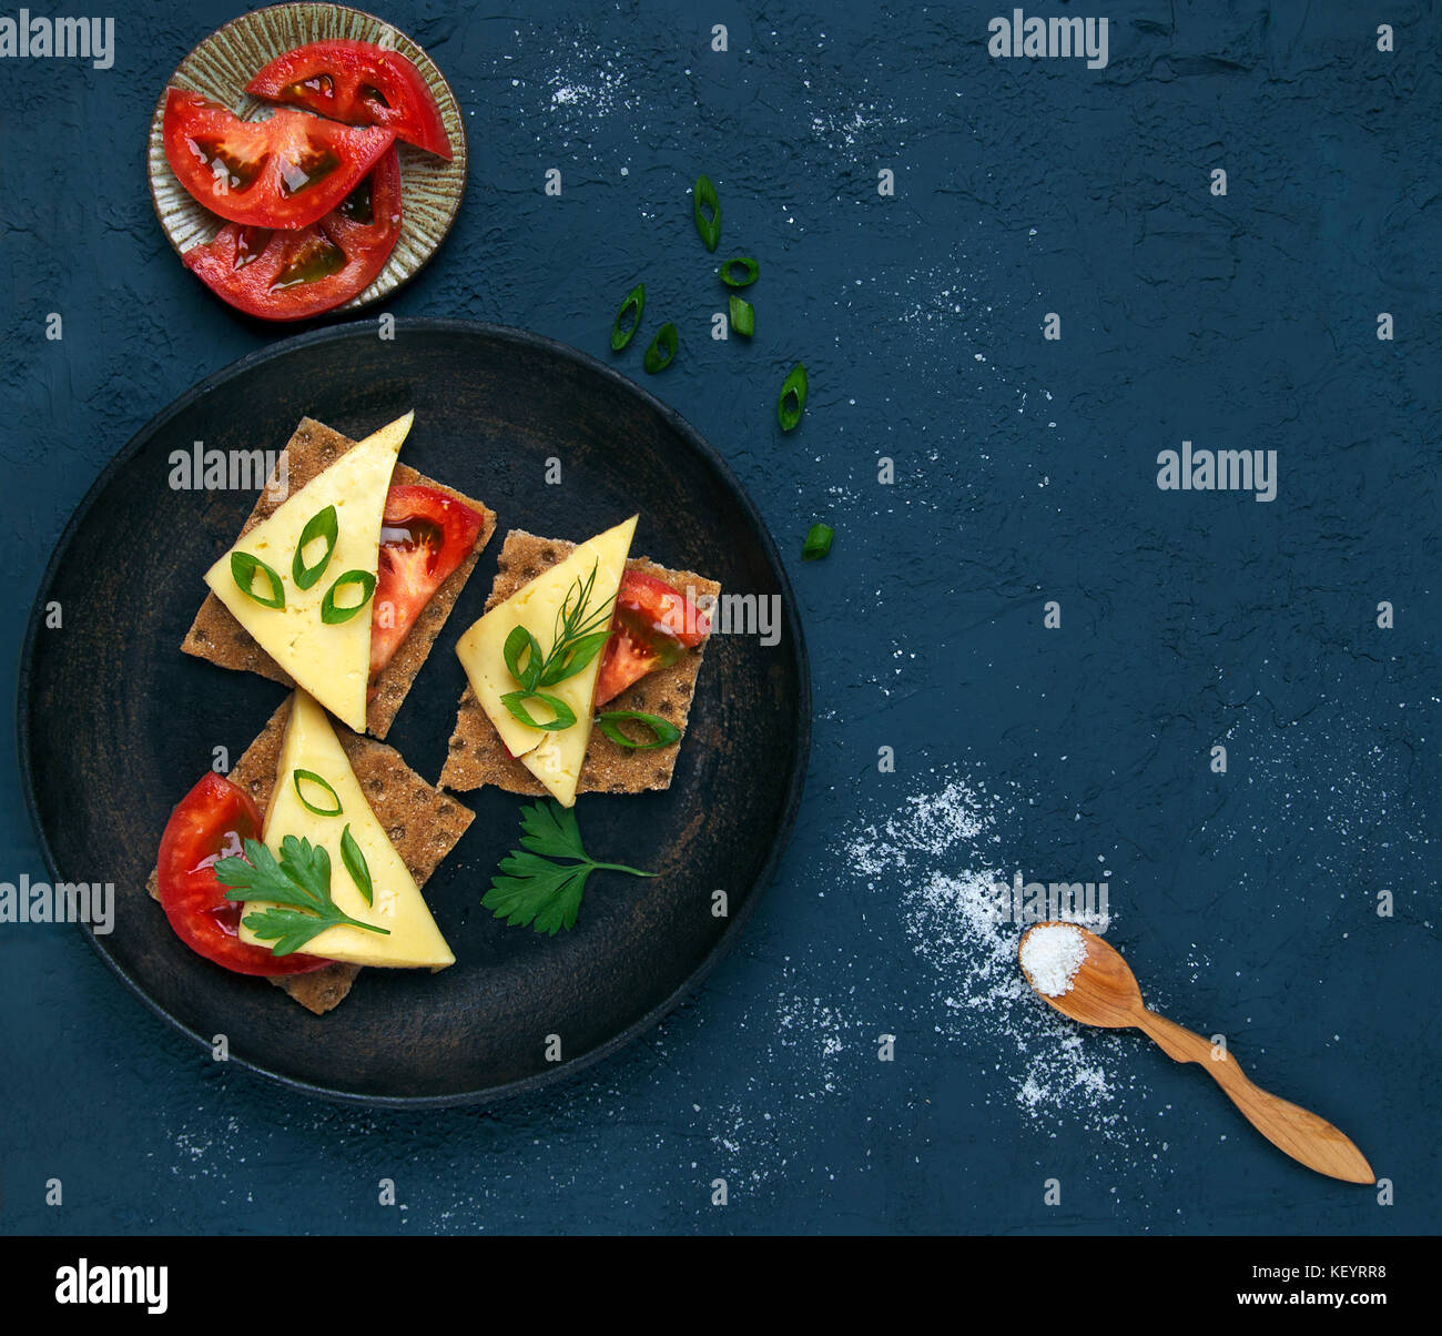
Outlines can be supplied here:
[[[757, 534], [760, 534], [763, 554], [767, 563], [771, 566], [777, 577], [777, 583], [782, 590], [782, 597], [786, 600], [786, 606], [792, 609], [792, 623], [793, 623], [793, 645], [795, 645], [795, 659], [796, 659], [796, 675], [799, 682], [799, 710], [797, 710], [797, 731], [796, 731], [796, 747], [792, 755], [792, 775], [786, 786], [786, 802], [782, 809], [779, 834], [771, 843], [771, 848], [766, 857], [760, 873], [756, 877], [753, 886], [756, 893], [748, 895], [741, 910], [731, 919], [725, 931], [717, 939], [715, 945], [711, 948], [707, 958], [701, 965], [692, 971], [692, 974], [663, 1001], [652, 1007], [645, 1016], [633, 1021], [624, 1030], [613, 1034], [609, 1040], [598, 1045], [597, 1047], [583, 1053], [580, 1058], [559, 1063], [554, 1071], [538, 1072], [531, 1076], [523, 1076], [519, 1081], [510, 1081], [505, 1085], [490, 1086], [483, 1091], [460, 1091], [448, 1095], [366, 1095], [358, 1091], [340, 1091], [332, 1089], [330, 1086], [314, 1085], [307, 1081], [300, 1081], [294, 1076], [286, 1076], [280, 1072], [274, 1072], [258, 1062], [248, 1062], [242, 1058], [232, 1058], [231, 1063], [245, 1071], [255, 1072], [264, 1076], [267, 1081], [273, 1081], [277, 1085], [284, 1086], [288, 1091], [301, 1095], [310, 1095], [313, 1098], [326, 1099], [335, 1104], [358, 1105], [365, 1108], [394, 1108], [394, 1109], [411, 1109], [411, 1108], [456, 1108], [463, 1105], [479, 1105], [479, 1104], [493, 1104], [502, 1099], [510, 1099], [516, 1095], [532, 1094], [545, 1086], [558, 1085], [568, 1081], [572, 1076], [580, 1075], [587, 1068], [613, 1053], [626, 1047], [632, 1040], [639, 1039], [647, 1030], [652, 1030], [659, 1024], [666, 1016], [669, 1016], [676, 1007], [681, 1006], [688, 997], [695, 994], [701, 985], [711, 977], [712, 971], [721, 961], [730, 954], [731, 948], [735, 945], [737, 938], [741, 931], [750, 922], [751, 915], [756, 912], [756, 906], [761, 897], [761, 893], [770, 886], [776, 876], [777, 864], [782, 860], [782, 854], [790, 841], [792, 831], [796, 825], [796, 814], [800, 809], [802, 792], [806, 785], [806, 769], [810, 759], [810, 733], [812, 733], [812, 690], [810, 690], [810, 661], [806, 652], [806, 638], [802, 628], [802, 620], [797, 613], [796, 596], [792, 589], [790, 577], [786, 573], [786, 567], [782, 563], [780, 553], [776, 547], [776, 540], [771, 537], [771, 531], [766, 521], [761, 518], [760, 511], [757, 511], [756, 504], [751, 501], [750, 493], [741, 485], [741, 480], [735, 476], [731, 466], [720, 454], [720, 452], [711, 446], [705, 437], [701, 436], [675, 408], [662, 403], [650, 391], [637, 385], [629, 377], [622, 375], [616, 368], [607, 366], [597, 358], [593, 358], [587, 352], [581, 352], [577, 348], [571, 348], [567, 343], [561, 343], [557, 339], [547, 338], [545, 335], [534, 333], [532, 330], [518, 329], [509, 325], [492, 325], [483, 320], [459, 320], [446, 317], [398, 317], [397, 330], [401, 333], [454, 333], [454, 335], [480, 335], [485, 338], [500, 339], [512, 343], [519, 343], [526, 348], [532, 348], [538, 352], [548, 353], [551, 356], [559, 356], [564, 361], [572, 362], [577, 366], [584, 368], [593, 375], [600, 375], [604, 379], [616, 385], [622, 392], [634, 395], [653, 413], [658, 413], [662, 420], [673, 431], [676, 431], [686, 444], [691, 446], [701, 457], [720, 475], [722, 483], [731, 491], [737, 504], [741, 506], [743, 512], [754, 525]], [[25, 641], [20, 648], [20, 671], [16, 681], [16, 747], [19, 752], [20, 762], [20, 788], [25, 794], [26, 811], [30, 817], [30, 828], [35, 832], [36, 841], [40, 847], [40, 854], [45, 858], [45, 866], [52, 877], [61, 876], [61, 869], [56, 864], [55, 853], [50, 848], [50, 843], [46, 838], [45, 828], [40, 824], [40, 812], [35, 796], [35, 775], [30, 765], [30, 718], [29, 718], [29, 703], [30, 703], [30, 680], [35, 662], [35, 645], [39, 635], [40, 622], [43, 618], [43, 610], [46, 605], [46, 596], [55, 583], [55, 579], [61, 570], [71, 542], [75, 534], [79, 531], [81, 525], [89, 515], [91, 508], [104, 495], [111, 479], [115, 473], [125, 467], [130, 460], [140, 453], [151, 436], [154, 436], [170, 418], [177, 417], [180, 413], [192, 407], [198, 400], [203, 398], [218, 385], [225, 384], [239, 375], [245, 375], [255, 366], [264, 365], [265, 362], [283, 358], [290, 352], [300, 348], [309, 348], [314, 343], [330, 343], [340, 342], [343, 339], [353, 338], [373, 338], [372, 325], [369, 320], [352, 320], [345, 325], [332, 325], [324, 329], [313, 329], [301, 335], [296, 335], [288, 339], [283, 339], [275, 343], [270, 343], [264, 348], [258, 348], [254, 352], [247, 353], [228, 366], [212, 372], [205, 379], [199, 381], [185, 391], [179, 398], [173, 400], [160, 413], [154, 414], [134, 436], [125, 443], [125, 446], [110, 460], [108, 465], [101, 470], [99, 476], [85, 492], [81, 502], [75, 506], [71, 518], [66, 521], [65, 528], [61, 531], [61, 537], [56, 540], [55, 550], [50, 553], [50, 560], [45, 566], [45, 573], [40, 577], [40, 584], [36, 592], [35, 603], [30, 607], [30, 616], [25, 628]], [[111, 958], [101, 942], [97, 939], [95, 933], [91, 931], [88, 923], [81, 925], [87, 941], [89, 941], [91, 948], [95, 954], [105, 962], [105, 965], [114, 972], [120, 981], [138, 997], [146, 1007], [166, 1021], [172, 1029], [186, 1036], [187, 1039], [198, 1043], [200, 1047], [209, 1050], [211, 1040], [203, 1034], [196, 1033], [189, 1029], [177, 1017], [172, 1016], [164, 1007], [154, 1001], [149, 993], [134, 980], [121, 965]]]

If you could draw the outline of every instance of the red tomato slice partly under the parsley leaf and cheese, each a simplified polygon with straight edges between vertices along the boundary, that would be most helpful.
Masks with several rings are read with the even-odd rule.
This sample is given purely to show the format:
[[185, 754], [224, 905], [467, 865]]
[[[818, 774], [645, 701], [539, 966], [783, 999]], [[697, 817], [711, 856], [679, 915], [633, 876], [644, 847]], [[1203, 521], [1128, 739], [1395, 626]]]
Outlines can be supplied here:
[[236, 974], [309, 974], [330, 961], [317, 955], [273, 955], [239, 938], [239, 900], [226, 900], [212, 869], [260, 840], [261, 814], [244, 789], [224, 775], [206, 775], [170, 814], [156, 858], [160, 906], [192, 951]]

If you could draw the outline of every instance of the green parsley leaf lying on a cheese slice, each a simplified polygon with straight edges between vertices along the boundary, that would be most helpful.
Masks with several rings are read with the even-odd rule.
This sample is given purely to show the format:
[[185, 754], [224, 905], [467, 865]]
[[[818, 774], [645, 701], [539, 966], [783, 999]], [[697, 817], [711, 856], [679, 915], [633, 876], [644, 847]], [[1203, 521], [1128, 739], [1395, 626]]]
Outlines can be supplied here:
[[242, 922], [262, 942], [274, 942], [273, 955], [290, 955], [340, 923], [391, 935], [389, 928], [350, 918], [330, 899], [330, 854], [309, 840], [287, 835], [280, 843], [280, 861], [260, 840], [247, 840], [244, 858], [221, 858], [213, 870], [215, 880], [231, 887], [225, 899], [271, 902]]

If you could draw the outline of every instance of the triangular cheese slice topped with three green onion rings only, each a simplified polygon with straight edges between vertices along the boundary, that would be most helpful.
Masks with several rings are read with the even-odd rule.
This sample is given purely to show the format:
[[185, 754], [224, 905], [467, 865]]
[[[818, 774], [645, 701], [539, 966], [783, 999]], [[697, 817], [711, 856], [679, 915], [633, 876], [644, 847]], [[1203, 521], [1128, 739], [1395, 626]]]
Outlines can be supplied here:
[[[391, 489], [395, 456], [411, 430], [414, 414], [382, 427], [352, 446], [329, 469], [316, 475], [294, 496], [288, 496], [270, 518], [245, 534], [235, 547], [205, 573], [205, 583], [235, 615], [296, 685], [309, 691], [342, 723], [365, 731], [366, 687], [371, 678], [371, 606], [343, 622], [323, 622], [320, 612], [336, 579], [346, 571], [376, 574], [381, 563], [381, 517]], [[300, 589], [291, 571], [300, 535], [314, 515], [336, 508], [336, 545], [320, 579]], [[249, 597], [235, 581], [231, 555], [245, 553], [264, 561], [280, 577], [284, 607], [267, 607]], [[307, 544], [306, 555], [317, 561], [324, 540]], [[273, 600], [264, 573], [252, 580], [255, 593]], [[348, 607], [363, 589], [342, 586], [335, 603]]]

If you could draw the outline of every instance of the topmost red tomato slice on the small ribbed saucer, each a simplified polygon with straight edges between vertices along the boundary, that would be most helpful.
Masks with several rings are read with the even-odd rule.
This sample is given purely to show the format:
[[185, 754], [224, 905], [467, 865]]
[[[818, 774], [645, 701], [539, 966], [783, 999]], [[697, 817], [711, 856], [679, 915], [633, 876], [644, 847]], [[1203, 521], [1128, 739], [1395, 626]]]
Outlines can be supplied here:
[[348, 126], [385, 126], [397, 139], [450, 162], [450, 140], [435, 98], [421, 72], [398, 50], [348, 39], [311, 42], [277, 56], [245, 91]]

